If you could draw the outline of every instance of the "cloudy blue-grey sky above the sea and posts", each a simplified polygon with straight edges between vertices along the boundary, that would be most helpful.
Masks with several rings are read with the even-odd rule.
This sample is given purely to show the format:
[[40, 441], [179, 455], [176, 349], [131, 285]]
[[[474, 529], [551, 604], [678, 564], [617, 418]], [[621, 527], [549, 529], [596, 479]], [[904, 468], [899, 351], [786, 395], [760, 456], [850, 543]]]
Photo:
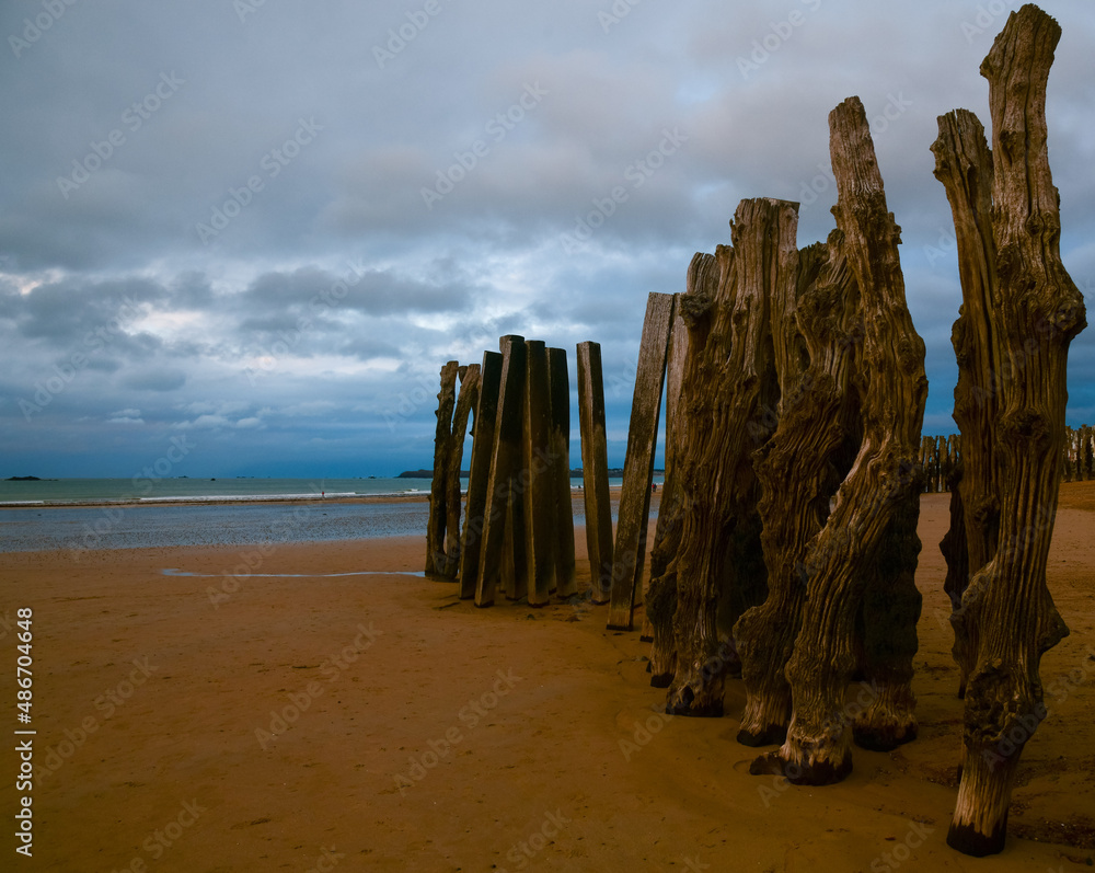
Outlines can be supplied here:
[[[1061, 253], [1095, 291], [1095, 4], [1049, 79]], [[391, 475], [445, 361], [601, 344], [622, 466], [650, 291], [746, 197], [833, 227], [858, 95], [954, 433], [961, 299], [936, 117], [989, 127], [1005, 0], [36, 0], [0, 8], [0, 476]], [[1095, 319], [1093, 319], [1095, 320]], [[1095, 330], [1071, 425], [1095, 423]], [[572, 462], [580, 463], [577, 400]], [[185, 446], [185, 451], [178, 447]], [[173, 448], [174, 447], [174, 448]], [[162, 467], [163, 464], [161, 464]]]

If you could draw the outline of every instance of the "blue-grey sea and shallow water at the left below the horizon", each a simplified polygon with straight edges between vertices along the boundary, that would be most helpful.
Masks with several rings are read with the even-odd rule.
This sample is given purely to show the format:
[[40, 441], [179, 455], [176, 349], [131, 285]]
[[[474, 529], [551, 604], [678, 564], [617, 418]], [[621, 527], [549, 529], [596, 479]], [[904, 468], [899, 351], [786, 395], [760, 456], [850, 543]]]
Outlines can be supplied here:
[[[655, 481], [660, 486], [660, 478]], [[137, 484], [0, 481], [0, 552], [65, 550], [79, 556], [97, 549], [425, 536], [429, 517], [427, 502], [405, 499], [428, 494], [428, 479], [178, 478]], [[580, 478], [570, 480], [575, 525], [585, 524], [580, 486]], [[357, 496], [374, 499], [341, 502]]]

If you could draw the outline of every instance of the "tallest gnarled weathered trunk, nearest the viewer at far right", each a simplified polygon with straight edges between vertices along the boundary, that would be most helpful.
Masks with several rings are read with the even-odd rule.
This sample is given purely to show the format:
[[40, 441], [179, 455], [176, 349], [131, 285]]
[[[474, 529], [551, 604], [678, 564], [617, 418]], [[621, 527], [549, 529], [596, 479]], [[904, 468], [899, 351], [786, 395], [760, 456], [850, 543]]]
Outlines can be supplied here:
[[[1069, 345], [1086, 326], [1083, 296], [1061, 263], [1060, 198], [1046, 145], [1046, 88], [1060, 36], [1052, 18], [1024, 5], [981, 64], [992, 114], [991, 165], [983, 152], [975, 153], [982, 156], [978, 172], [992, 177], [995, 269], [986, 308], [991, 326], [971, 330], [991, 331], [1001, 354], [995, 372], [979, 377], [998, 389], [988, 446], [1000, 517], [996, 550], [961, 596], [963, 620], [978, 632], [966, 686], [961, 782], [947, 834], [952, 848], [976, 857], [1004, 847], [1019, 756], [1046, 716], [1041, 655], [1069, 632], [1046, 585]], [[956, 148], [949, 151], [940, 150], [960, 160]], [[964, 435], [967, 464], [983, 450]], [[969, 527], [967, 521], [967, 540]]]

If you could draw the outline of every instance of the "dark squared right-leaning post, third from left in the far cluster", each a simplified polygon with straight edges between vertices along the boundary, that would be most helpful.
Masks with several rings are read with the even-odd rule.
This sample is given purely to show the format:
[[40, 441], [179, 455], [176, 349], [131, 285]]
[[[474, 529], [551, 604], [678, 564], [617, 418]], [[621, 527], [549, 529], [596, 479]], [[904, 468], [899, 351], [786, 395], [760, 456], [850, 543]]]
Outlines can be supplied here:
[[502, 355], [497, 352], [484, 352], [483, 365], [480, 368], [479, 403], [475, 406], [472, 459], [468, 471], [468, 508], [460, 548], [460, 599], [462, 600], [470, 600], [475, 596], [475, 581], [479, 578], [500, 381]]

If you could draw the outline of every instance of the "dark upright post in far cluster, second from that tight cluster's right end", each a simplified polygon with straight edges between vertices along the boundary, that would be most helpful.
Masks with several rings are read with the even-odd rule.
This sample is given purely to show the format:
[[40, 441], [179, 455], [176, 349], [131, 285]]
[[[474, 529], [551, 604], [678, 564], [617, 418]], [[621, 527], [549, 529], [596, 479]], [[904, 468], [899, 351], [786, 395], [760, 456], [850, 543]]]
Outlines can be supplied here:
[[525, 551], [528, 562], [529, 606], [548, 606], [555, 578], [555, 492], [549, 443], [551, 381], [548, 349], [541, 340], [525, 343], [525, 434], [522, 470], [518, 483], [525, 505]]

